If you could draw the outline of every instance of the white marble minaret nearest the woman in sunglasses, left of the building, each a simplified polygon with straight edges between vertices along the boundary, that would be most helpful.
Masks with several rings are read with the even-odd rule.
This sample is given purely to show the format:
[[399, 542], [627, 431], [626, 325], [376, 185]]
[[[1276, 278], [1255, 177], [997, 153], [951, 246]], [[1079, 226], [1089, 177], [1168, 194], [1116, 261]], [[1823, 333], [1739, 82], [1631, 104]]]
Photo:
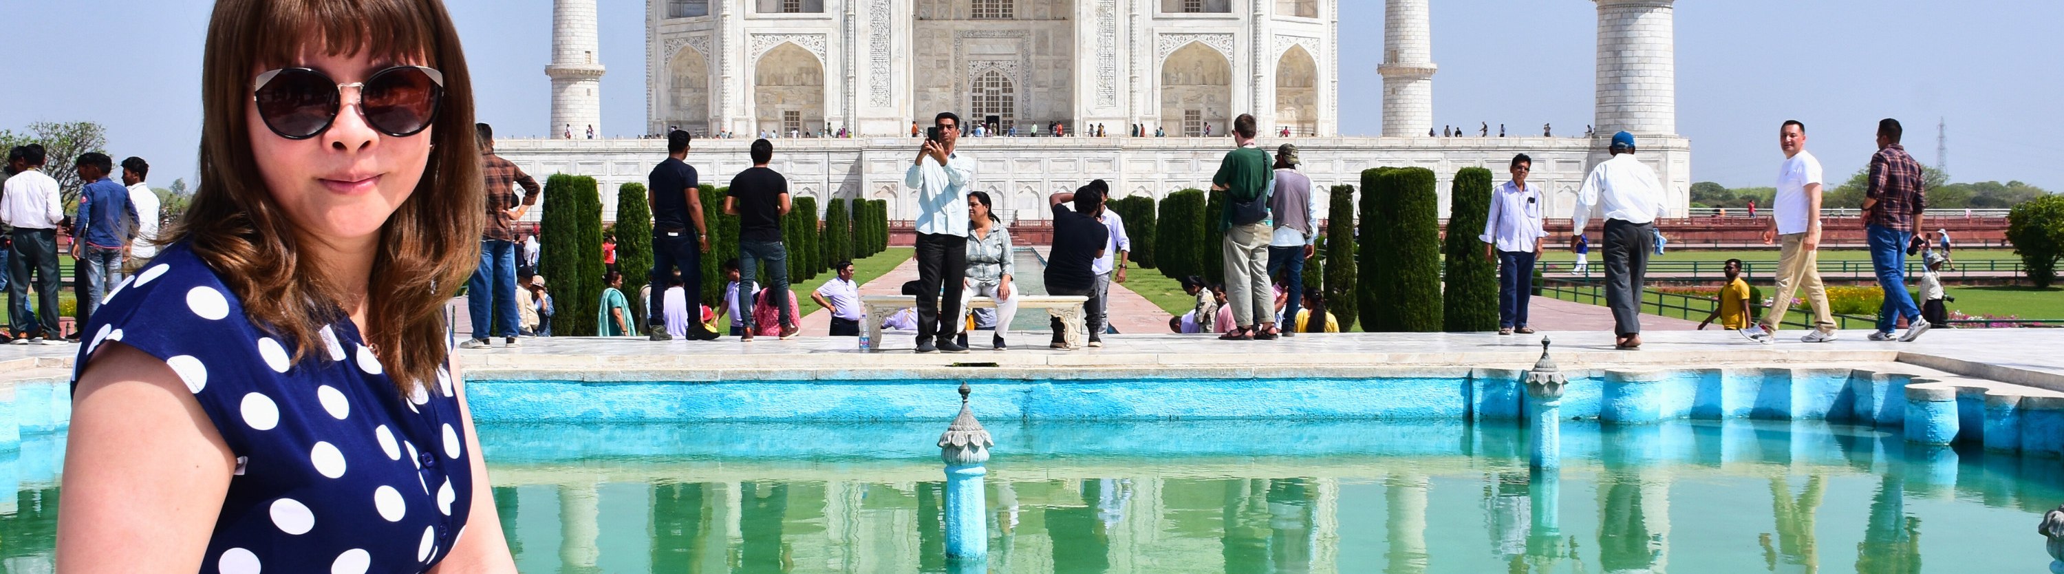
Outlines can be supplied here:
[[596, 56], [594, 0], [551, 2], [551, 126], [553, 138], [586, 138], [603, 130], [603, 60]]

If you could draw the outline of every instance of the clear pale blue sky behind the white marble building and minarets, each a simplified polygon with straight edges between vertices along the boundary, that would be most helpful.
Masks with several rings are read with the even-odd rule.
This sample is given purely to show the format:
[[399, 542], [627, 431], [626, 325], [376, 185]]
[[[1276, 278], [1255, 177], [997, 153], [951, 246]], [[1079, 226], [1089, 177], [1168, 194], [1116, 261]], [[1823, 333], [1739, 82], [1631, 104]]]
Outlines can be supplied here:
[[[549, 0], [448, 0], [475, 72], [479, 116], [502, 134], [541, 134]], [[1870, 159], [1878, 118], [1936, 161], [1948, 122], [1957, 182], [2023, 180], [2064, 190], [2043, 165], [2064, 157], [2064, 2], [2006, 0], [1680, 0], [1678, 132], [1692, 178], [1769, 186], [1777, 124], [1808, 126], [1829, 178]], [[6, 0], [0, 45], [37, 54], [0, 81], [0, 128], [39, 120], [107, 126], [109, 153], [155, 165], [153, 184], [192, 178], [200, 134], [200, 47], [211, 2]], [[603, 132], [644, 130], [644, 2], [601, 0]], [[1344, 0], [1342, 118], [1377, 134], [1383, 2]], [[1585, 0], [1432, 0], [1434, 122], [1577, 132], [1591, 122], [1595, 8]]]

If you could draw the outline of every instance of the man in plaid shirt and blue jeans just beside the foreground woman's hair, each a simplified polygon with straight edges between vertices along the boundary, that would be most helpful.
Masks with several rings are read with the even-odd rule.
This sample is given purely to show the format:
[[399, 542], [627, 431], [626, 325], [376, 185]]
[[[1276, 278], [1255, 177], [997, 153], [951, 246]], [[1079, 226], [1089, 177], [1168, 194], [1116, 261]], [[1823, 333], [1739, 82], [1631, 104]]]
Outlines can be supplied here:
[[[537, 204], [543, 190], [530, 173], [522, 173], [516, 163], [495, 155], [495, 132], [487, 124], [473, 124], [481, 145], [481, 176], [487, 178], [487, 229], [481, 229], [481, 266], [466, 281], [466, 314], [473, 318], [473, 339], [458, 343], [464, 349], [487, 349], [489, 306], [493, 326], [516, 345], [516, 219]], [[516, 186], [522, 186], [522, 202], [516, 200]]]

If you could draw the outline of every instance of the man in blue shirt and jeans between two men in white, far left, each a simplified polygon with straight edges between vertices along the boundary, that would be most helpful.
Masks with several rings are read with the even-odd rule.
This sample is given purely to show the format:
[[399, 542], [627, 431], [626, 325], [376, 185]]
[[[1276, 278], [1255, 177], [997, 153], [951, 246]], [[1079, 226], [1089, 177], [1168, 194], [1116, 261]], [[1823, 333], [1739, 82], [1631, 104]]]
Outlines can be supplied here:
[[116, 161], [105, 153], [83, 153], [72, 169], [78, 171], [78, 182], [87, 182], [78, 190], [78, 217], [72, 219], [78, 225], [72, 235], [72, 258], [83, 260], [87, 270], [83, 277], [87, 297], [78, 301], [78, 328], [87, 328], [83, 320], [93, 316], [107, 289], [122, 283], [122, 260], [128, 254], [130, 237], [134, 237], [128, 223], [136, 221], [136, 204], [128, 200], [128, 188], [107, 180]]

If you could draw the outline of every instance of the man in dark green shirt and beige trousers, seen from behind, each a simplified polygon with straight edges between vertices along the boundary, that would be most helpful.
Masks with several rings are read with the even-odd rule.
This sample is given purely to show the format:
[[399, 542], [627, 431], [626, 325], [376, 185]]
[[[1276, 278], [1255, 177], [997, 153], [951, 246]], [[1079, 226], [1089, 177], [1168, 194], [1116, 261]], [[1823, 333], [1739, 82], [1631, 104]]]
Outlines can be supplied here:
[[1238, 328], [1218, 337], [1226, 341], [1276, 339], [1276, 297], [1269, 289], [1269, 153], [1255, 145], [1255, 116], [1232, 120], [1232, 142], [1212, 176], [1212, 190], [1226, 192], [1218, 229], [1226, 231], [1226, 306]]

